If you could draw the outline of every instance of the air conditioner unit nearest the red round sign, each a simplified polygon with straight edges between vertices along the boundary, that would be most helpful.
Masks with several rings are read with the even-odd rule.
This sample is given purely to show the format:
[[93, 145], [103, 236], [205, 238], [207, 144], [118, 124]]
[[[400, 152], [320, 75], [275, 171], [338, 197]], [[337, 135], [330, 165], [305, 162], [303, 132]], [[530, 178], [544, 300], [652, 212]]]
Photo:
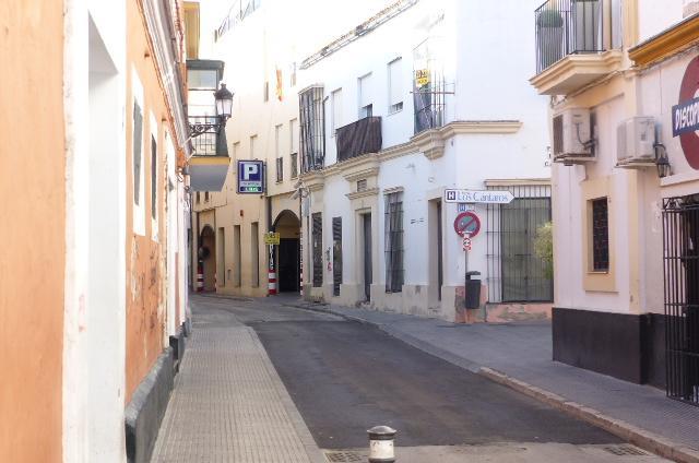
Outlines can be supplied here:
[[632, 117], [616, 129], [618, 167], [647, 167], [655, 164], [655, 119]]

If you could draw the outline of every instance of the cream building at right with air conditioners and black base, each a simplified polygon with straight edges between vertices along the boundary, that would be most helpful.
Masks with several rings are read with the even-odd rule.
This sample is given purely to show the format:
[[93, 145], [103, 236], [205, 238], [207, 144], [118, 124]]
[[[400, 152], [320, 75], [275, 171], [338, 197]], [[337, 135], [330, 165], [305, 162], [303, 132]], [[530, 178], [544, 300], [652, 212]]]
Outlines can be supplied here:
[[554, 358], [695, 404], [697, 7], [548, 1], [530, 81], [552, 98]]

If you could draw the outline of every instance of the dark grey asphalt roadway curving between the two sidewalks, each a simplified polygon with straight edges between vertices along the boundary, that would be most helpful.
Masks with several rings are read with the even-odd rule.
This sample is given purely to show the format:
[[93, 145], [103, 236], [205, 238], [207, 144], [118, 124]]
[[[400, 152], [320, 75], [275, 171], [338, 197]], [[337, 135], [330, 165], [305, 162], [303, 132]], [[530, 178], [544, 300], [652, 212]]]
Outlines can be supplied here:
[[478, 375], [368, 325], [252, 304], [227, 308], [252, 327], [317, 443], [366, 446], [366, 429], [389, 425], [398, 446], [499, 442], [618, 443]]

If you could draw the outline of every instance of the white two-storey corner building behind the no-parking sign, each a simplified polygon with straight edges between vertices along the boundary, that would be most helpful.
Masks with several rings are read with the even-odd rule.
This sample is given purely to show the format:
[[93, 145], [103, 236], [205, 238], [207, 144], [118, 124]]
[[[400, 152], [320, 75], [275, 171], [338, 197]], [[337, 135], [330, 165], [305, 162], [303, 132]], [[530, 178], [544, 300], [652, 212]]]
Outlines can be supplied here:
[[[393, 1], [299, 62], [306, 298], [450, 321], [547, 317], [553, 285], [533, 251], [550, 219], [547, 98], [526, 84], [535, 32], [522, 20], [535, 3], [491, 3]], [[514, 199], [458, 204], [448, 189]], [[481, 224], [467, 260], [463, 217]], [[467, 271], [481, 274], [473, 310]]]

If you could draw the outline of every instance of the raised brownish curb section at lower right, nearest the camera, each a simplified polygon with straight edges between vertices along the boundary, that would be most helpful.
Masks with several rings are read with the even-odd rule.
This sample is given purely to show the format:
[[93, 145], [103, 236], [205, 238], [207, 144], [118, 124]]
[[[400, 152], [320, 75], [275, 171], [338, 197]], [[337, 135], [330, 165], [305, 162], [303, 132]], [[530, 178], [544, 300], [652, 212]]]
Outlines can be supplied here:
[[594, 408], [587, 407], [577, 402], [568, 401], [553, 392], [520, 381], [491, 368], [482, 367], [478, 375], [502, 385], [507, 385], [524, 395], [543, 402], [576, 418], [590, 423], [605, 431], [613, 434], [643, 450], [653, 452], [662, 458], [679, 463], [699, 463], [699, 452], [680, 446], [644, 429], [640, 429], [629, 423], [612, 418]]

